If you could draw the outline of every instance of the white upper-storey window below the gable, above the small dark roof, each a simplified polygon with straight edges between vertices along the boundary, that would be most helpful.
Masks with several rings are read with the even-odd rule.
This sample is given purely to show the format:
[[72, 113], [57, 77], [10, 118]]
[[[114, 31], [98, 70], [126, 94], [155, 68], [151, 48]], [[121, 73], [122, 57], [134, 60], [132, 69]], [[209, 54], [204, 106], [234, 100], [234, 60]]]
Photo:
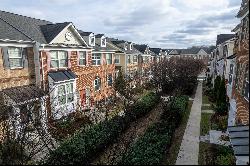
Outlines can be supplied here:
[[50, 51], [51, 68], [68, 67], [68, 54], [66, 51]]

